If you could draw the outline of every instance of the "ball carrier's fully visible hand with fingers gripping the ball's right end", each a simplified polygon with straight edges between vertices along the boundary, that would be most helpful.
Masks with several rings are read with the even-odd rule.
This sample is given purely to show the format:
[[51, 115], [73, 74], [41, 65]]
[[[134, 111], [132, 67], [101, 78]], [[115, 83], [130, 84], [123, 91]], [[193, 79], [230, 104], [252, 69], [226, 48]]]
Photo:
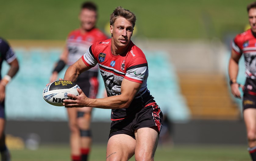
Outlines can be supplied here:
[[72, 107], [89, 107], [89, 104], [88, 104], [88, 97], [86, 97], [86, 95], [84, 94], [84, 92], [77, 88], [77, 91], [79, 93], [79, 96], [76, 96], [74, 94], [68, 94], [68, 97], [72, 97], [74, 98], [75, 100], [72, 100], [72, 99], [66, 99], [64, 100], [63, 102], [63, 105], [66, 107], [66, 108], [72, 108]]

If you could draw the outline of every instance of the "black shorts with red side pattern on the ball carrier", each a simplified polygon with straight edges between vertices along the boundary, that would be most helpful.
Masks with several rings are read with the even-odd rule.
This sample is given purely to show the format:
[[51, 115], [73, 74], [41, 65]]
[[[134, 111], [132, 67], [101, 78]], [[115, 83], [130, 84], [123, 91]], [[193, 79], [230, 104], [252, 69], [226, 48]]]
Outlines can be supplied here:
[[117, 134], [126, 134], [135, 139], [136, 129], [157, 126], [158, 135], [162, 128], [163, 114], [157, 104], [142, 108], [138, 113], [128, 118], [112, 121], [108, 139]]

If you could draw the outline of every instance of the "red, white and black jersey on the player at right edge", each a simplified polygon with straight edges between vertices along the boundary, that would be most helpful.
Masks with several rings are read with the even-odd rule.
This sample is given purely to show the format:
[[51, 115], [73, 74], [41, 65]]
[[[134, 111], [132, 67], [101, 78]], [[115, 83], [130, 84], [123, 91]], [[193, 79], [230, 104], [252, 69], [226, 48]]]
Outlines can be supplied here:
[[232, 48], [237, 54], [244, 54], [246, 77], [256, 78], [256, 37], [251, 29], [238, 34], [232, 43]]

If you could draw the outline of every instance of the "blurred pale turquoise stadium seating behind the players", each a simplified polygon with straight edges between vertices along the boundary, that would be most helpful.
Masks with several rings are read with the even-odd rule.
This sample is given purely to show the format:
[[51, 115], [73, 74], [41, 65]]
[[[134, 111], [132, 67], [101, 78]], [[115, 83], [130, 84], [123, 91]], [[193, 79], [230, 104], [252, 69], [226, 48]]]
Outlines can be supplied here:
[[[66, 120], [66, 109], [52, 106], [42, 98], [42, 90], [49, 83], [54, 63], [59, 59], [61, 48], [15, 48], [20, 71], [7, 87], [6, 114], [11, 120]], [[144, 52], [149, 64], [148, 89], [162, 111], [173, 121], [190, 118], [189, 108], [180, 94], [175, 68], [164, 52]], [[166, 59], [168, 58], [168, 59]], [[3, 64], [2, 75], [8, 65]], [[63, 77], [65, 70], [59, 74]], [[100, 76], [101, 77], [101, 76]], [[102, 97], [105, 87], [99, 79]], [[12, 99], [15, 98], [15, 101]], [[17, 103], [18, 102], [18, 103]], [[110, 110], [94, 109], [93, 121], [110, 121]]]

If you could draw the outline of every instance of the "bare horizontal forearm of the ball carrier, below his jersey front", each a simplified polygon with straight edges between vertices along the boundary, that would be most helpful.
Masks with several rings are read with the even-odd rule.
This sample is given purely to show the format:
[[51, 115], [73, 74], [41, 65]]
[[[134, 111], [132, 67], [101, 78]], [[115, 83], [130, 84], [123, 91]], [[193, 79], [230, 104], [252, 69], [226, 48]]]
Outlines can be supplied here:
[[104, 109], [117, 109], [129, 107], [132, 100], [129, 98], [117, 95], [106, 98], [88, 99], [88, 107], [104, 108]]

